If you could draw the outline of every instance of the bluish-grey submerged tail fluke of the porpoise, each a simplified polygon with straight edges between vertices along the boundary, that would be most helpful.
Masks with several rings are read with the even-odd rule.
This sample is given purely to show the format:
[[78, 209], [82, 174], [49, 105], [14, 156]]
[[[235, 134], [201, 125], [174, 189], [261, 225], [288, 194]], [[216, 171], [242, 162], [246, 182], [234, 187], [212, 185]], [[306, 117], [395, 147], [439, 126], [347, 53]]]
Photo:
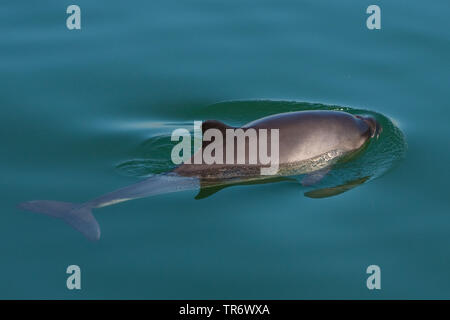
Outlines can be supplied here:
[[28, 211], [62, 219], [91, 241], [100, 239], [100, 226], [92, 215], [92, 207], [88, 205], [35, 200], [22, 202], [19, 204], [19, 207]]

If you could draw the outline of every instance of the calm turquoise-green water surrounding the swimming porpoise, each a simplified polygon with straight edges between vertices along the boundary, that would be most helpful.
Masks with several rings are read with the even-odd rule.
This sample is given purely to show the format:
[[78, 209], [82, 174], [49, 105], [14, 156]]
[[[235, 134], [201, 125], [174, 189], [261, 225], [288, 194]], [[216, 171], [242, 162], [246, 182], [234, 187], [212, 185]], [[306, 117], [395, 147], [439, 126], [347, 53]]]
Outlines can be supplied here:
[[[450, 298], [448, 2], [376, 1], [377, 31], [367, 1], [79, 0], [80, 31], [69, 4], [0, 9], [1, 298]], [[174, 128], [287, 101], [386, 117], [401, 157], [369, 150], [382, 172], [323, 199], [276, 183], [124, 202], [95, 212], [98, 242], [16, 207], [136, 183]]]

